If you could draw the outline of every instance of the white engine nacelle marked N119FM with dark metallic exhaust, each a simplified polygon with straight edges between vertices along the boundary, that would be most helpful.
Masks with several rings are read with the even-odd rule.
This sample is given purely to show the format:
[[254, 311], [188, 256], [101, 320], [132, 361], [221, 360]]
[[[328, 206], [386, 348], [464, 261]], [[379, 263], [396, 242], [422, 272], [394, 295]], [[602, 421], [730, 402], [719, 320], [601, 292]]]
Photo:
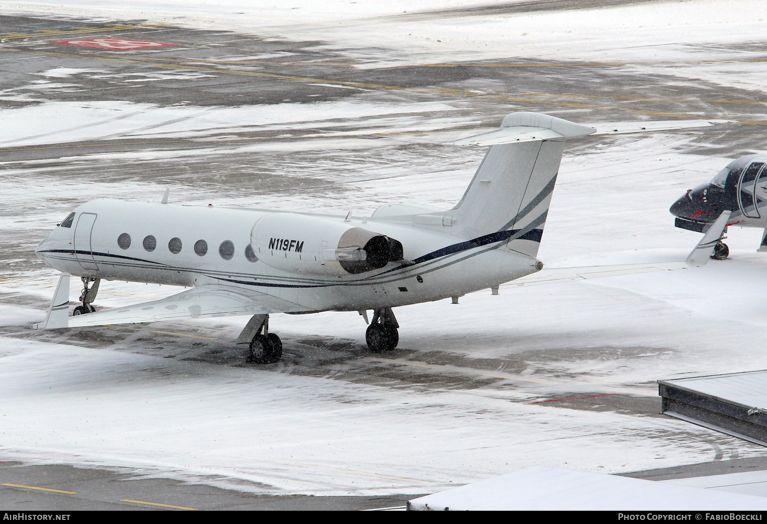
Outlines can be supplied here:
[[271, 213], [250, 234], [266, 265], [290, 273], [337, 275], [380, 269], [403, 258], [399, 241], [328, 218]]

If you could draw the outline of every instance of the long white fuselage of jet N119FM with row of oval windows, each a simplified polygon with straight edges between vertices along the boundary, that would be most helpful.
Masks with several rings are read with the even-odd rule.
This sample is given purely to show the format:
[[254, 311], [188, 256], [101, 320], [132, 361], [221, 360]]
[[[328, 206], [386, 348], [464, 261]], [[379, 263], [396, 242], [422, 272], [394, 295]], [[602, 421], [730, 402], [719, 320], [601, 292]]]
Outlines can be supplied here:
[[[184, 287], [245, 287], [316, 311], [462, 296], [541, 267], [492, 235], [459, 238], [449, 226], [416, 225], [407, 216], [344, 219], [100, 199], [78, 207], [66, 225], [51, 231], [35, 250], [64, 273]], [[350, 230], [397, 239], [403, 260], [350, 273], [349, 264], [365, 264], [354, 262], [354, 247], [337, 240]], [[373, 264], [370, 248], [368, 253], [367, 263]]]

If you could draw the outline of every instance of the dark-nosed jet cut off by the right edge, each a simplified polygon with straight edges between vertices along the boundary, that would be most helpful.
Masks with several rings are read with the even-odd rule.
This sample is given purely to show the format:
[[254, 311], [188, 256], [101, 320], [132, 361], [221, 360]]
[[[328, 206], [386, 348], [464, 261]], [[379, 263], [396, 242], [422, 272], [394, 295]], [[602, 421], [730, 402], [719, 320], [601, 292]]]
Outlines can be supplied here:
[[[762, 244], [756, 251], [767, 251], [767, 168], [765, 165], [767, 165], [765, 155], [742, 156], [729, 162], [711, 182], [688, 189], [669, 210], [676, 216], [674, 225], [677, 228], [702, 233], [709, 230], [722, 211], [732, 211], [727, 225], [764, 229]], [[720, 239], [712, 258], [724, 260], [728, 255], [729, 247]]]

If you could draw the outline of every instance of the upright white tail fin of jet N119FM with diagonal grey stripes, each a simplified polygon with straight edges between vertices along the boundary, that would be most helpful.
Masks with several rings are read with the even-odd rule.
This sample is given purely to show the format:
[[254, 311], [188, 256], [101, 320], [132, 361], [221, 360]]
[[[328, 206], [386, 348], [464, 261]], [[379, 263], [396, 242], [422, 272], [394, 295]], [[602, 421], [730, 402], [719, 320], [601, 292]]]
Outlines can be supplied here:
[[554, 116], [512, 113], [498, 131], [455, 142], [490, 149], [463, 198], [448, 211], [453, 233], [473, 238], [505, 231], [509, 248], [535, 257], [565, 139], [591, 133], [591, 127]]

